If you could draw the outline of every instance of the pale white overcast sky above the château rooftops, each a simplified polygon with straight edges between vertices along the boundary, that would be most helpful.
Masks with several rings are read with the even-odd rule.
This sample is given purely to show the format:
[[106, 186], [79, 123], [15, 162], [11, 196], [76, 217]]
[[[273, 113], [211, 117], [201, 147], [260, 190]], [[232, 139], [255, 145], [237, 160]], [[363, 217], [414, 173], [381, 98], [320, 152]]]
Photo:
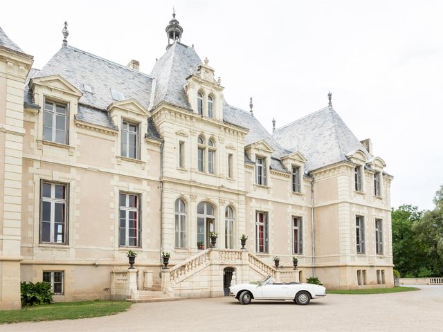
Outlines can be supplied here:
[[392, 206], [443, 184], [443, 1], [7, 1], [0, 26], [42, 68], [69, 44], [150, 73], [172, 6], [226, 100], [271, 131], [327, 106], [395, 176]]

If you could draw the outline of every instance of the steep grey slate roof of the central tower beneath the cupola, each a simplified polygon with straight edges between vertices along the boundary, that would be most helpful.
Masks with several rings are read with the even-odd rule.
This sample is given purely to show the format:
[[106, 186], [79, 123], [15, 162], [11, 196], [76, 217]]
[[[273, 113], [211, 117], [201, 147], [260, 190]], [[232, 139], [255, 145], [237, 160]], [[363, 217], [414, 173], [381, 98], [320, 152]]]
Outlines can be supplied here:
[[184, 85], [190, 75], [190, 66], [197, 70], [201, 64], [194, 48], [176, 42], [156, 62], [151, 76], [155, 77], [155, 95], [152, 106], [164, 100], [186, 109], [191, 109]]

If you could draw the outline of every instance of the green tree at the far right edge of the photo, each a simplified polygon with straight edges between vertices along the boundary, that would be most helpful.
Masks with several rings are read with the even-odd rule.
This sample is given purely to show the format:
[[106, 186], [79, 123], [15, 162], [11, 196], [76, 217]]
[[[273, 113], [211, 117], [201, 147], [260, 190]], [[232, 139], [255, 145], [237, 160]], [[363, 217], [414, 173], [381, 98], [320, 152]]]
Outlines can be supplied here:
[[413, 230], [417, 240], [426, 252], [426, 268], [431, 275], [443, 275], [443, 185], [435, 193], [435, 208], [426, 211], [423, 217], [415, 223]]

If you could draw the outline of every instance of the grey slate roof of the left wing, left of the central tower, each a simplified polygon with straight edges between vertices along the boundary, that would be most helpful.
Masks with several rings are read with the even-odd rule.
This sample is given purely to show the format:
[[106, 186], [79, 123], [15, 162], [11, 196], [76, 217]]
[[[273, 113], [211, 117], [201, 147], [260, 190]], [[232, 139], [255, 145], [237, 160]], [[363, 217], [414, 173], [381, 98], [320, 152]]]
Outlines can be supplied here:
[[[112, 99], [110, 89], [120, 91], [125, 99], [134, 98], [150, 108], [152, 77], [144, 73], [102, 59], [72, 46], [63, 46], [35, 77], [60, 75], [83, 91], [79, 102], [98, 109], [106, 109]], [[92, 93], [84, 91], [91, 86]]]

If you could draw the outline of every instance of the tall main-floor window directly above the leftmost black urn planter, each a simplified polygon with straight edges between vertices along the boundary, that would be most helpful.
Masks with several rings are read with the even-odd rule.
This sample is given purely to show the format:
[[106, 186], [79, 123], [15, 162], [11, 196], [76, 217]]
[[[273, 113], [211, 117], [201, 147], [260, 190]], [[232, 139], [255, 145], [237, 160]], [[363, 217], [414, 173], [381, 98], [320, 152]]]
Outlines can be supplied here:
[[140, 246], [140, 197], [136, 194], [120, 192], [120, 229], [121, 247]]

